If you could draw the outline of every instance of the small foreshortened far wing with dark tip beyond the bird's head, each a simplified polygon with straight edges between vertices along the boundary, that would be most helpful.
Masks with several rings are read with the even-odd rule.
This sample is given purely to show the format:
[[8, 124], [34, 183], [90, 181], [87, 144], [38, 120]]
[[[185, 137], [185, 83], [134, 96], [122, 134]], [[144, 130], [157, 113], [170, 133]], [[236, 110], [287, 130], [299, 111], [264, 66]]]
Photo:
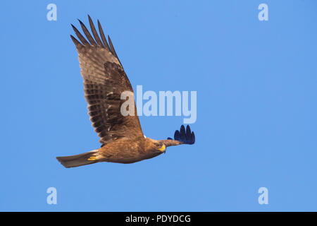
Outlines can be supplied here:
[[168, 146], [175, 146], [180, 144], [194, 144], [195, 143], [195, 134], [194, 132], [190, 131], [189, 125], [186, 126], [180, 126], [180, 131], [175, 131], [174, 133], [174, 139], [168, 138], [167, 140], [162, 141], [166, 147]]

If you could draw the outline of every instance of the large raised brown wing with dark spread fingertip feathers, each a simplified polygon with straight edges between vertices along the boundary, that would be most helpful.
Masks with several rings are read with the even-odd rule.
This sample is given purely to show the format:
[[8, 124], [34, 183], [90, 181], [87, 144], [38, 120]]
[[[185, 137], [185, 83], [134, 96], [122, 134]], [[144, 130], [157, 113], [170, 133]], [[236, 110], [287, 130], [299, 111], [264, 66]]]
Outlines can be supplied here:
[[82, 78], [84, 79], [85, 98], [88, 102], [90, 121], [105, 145], [118, 138], [143, 137], [137, 109], [134, 116], [123, 116], [120, 107], [125, 100], [120, 100], [121, 93], [130, 91], [132, 86], [121, 65], [110, 37], [108, 42], [98, 20], [100, 37], [92, 19], [88, 16], [92, 35], [80, 21], [86, 38], [72, 25], [80, 42], [72, 38], [80, 61]]

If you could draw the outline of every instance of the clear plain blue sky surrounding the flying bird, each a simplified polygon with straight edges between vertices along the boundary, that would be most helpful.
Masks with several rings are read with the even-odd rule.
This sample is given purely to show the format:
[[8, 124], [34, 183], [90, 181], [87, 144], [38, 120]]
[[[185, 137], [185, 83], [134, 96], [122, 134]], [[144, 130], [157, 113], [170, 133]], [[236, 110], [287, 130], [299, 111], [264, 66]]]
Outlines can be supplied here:
[[[99, 148], [69, 37], [87, 13], [133, 88], [197, 91], [197, 143], [132, 165], [56, 161]], [[4, 1], [0, 17], [0, 210], [317, 210], [316, 1]], [[140, 121], [161, 139], [182, 117]]]

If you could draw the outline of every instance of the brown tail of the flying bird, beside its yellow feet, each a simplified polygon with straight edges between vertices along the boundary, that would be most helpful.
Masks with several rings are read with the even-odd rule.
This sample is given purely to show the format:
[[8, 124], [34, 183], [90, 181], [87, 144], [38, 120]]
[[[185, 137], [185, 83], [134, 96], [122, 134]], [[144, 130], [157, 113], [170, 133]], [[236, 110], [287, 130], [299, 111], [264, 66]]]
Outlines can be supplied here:
[[56, 159], [66, 168], [80, 167], [81, 165], [89, 165], [98, 162], [97, 160], [88, 160], [89, 157], [94, 157], [94, 154], [96, 153], [98, 153], [98, 150], [92, 150], [79, 155], [56, 157]]

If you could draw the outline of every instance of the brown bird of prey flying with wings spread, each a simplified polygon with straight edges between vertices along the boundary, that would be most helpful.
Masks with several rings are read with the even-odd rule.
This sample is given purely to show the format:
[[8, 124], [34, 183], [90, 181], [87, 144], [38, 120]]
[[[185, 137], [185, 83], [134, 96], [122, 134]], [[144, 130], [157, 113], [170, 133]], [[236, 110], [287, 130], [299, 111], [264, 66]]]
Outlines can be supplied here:
[[121, 114], [120, 107], [125, 102], [120, 98], [121, 93], [133, 93], [132, 85], [109, 36], [107, 42], [99, 20], [100, 37], [89, 15], [88, 19], [93, 37], [80, 20], [87, 40], [74, 25], [80, 41], [73, 35], [70, 37], [77, 49], [90, 121], [100, 137], [101, 148], [80, 155], [56, 157], [57, 160], [67, 168], [96, 162], [132, 163], [161, 155], [168, 146], [194, 144], [194, 132], [188, 125], [186, 129], [182, 125], [180, 131], [175, 131], [174, 139], [156, 141], [144, 136], [137, 114]]

